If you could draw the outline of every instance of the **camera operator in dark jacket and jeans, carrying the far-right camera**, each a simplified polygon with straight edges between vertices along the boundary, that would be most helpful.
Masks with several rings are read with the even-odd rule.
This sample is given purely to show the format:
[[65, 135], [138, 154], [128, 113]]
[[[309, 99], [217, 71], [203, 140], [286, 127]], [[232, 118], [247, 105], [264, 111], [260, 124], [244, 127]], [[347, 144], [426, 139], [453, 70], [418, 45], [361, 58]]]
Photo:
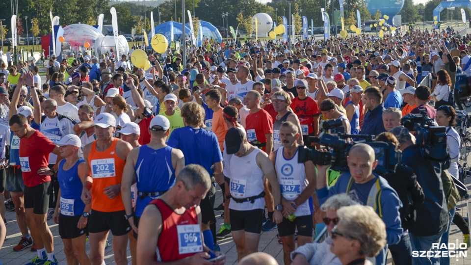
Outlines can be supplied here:
[[[448, 229], [448, 208], [441, 177], [442, 169], [437, 168], [440, 166], [437, 163], [432, 163], [429, 159], [422, 157], [421, 146], [413, 142], [407, 128], [396, 127], [391, 132], [399, 141], [402, 162], [414, 170], [417, 182], [425, 194], [423, 203], [415, 207], [416, 222], [409, 229], [412, 251], [432, 251], [432, 244], [439, 243], [440, 238]], [[435, 264], [439, 260], [435, 257], [415, 259], [418, 264]]]

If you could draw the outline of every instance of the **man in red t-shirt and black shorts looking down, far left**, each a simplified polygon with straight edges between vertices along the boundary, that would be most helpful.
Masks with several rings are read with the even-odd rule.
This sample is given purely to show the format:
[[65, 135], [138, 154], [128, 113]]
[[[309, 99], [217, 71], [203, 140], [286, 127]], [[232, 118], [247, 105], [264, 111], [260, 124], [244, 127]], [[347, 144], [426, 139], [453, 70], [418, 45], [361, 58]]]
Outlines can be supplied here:
[[38, 249], [38, 257], [32, 263], [44, 264], [47, 261], [56, 263], [52, 233], [46, 223], [46, 214], [49, 207], [50, 176], [57, 171], [57, 168], [49, 169], [48, 165], [51, 153], [57, 155], [57, 161], [62, 157], [51, 140], [29, 126], [25, 116], [13, 115], [9, 125], [10, 130], [20, 138], [20, 165], [25, 182], [26, 220], [28, 224], [33, 224], [29, 229]]

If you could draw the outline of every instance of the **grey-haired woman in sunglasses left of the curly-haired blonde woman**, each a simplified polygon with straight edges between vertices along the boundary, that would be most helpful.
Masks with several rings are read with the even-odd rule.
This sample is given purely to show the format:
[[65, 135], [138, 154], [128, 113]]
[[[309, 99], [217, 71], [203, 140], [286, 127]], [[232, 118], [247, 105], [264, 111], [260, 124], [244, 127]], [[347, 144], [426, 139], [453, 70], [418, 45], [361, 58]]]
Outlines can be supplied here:
[[328, 237], [320, 243], [309, 243], [298, 247], [291, 252], [291, 260], [294, 265], [340, 265], [340, 260], [330, 251], [332, 243], [332, 229], [339, 222], [337, 210], [341, 207], [357, 204], [350, 196], [346, 194], [338, 194], [330, 197], [321, 206], [321, 210], [325, 212], [322, 221], [327, 226]]

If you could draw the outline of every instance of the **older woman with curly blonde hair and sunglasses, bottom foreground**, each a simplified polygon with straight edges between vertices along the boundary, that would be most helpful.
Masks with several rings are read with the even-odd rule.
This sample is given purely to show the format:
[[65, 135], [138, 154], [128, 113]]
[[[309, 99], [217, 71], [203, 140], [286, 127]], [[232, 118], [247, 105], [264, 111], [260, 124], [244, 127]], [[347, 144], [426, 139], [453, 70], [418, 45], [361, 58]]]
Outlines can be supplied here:
[[340, 220], [332, 228], [330, 250], [342, 265], [372, 265], [366, 257], [378, 255], [386, 245], [386, 225], [373, 208], [362, 205], [342, 207]]

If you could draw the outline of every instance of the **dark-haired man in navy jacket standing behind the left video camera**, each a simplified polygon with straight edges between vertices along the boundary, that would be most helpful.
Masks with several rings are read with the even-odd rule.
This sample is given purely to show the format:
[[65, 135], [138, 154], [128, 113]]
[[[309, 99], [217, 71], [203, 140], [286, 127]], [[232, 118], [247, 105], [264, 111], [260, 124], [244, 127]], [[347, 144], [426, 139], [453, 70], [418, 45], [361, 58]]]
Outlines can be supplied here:
[[383, 126], [383, 94], [379, 88], [372, 86], [365, 90], [363, 96], [364, 106], [367, 109], [363, 118], [363, 126], [360, 134], [379, 135], [386, 132]]

